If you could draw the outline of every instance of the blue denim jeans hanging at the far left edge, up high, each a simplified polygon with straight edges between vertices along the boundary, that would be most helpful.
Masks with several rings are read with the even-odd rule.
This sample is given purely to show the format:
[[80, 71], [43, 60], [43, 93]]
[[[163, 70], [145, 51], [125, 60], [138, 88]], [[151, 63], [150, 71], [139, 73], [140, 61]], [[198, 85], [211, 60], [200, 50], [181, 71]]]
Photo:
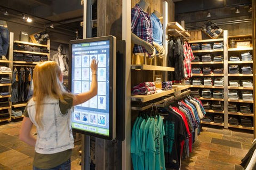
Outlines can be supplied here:
[[7, 54], [9, 47], [9, 30], [5, 27], [0, 27], [0, 55]]

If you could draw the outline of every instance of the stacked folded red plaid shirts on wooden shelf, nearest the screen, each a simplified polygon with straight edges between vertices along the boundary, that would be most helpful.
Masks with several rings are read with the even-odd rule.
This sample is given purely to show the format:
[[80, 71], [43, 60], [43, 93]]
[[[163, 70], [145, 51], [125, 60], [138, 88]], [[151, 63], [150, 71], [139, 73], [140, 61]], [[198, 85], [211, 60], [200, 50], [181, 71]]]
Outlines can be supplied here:
[[154, 82], [143, 82], [132, 88], [132, 95], [149, 95], [156, 92]]

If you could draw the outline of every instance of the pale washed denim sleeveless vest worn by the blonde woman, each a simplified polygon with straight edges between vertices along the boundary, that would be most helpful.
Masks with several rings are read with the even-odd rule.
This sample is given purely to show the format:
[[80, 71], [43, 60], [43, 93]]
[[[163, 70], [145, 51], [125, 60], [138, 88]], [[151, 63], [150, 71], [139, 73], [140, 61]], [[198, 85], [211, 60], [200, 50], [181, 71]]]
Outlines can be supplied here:
[[36, 126], [37, 140], [35, 151], [42, 154], [51, 154], [74, 148], [74, 139], [71, 128], [71, 111], [63, 115], [60, 111], [59, 100], [46, 98], [43, 102], [43, 129], [35, 121], [36, 107], [32, 99], [28, 101], [28, 115]]

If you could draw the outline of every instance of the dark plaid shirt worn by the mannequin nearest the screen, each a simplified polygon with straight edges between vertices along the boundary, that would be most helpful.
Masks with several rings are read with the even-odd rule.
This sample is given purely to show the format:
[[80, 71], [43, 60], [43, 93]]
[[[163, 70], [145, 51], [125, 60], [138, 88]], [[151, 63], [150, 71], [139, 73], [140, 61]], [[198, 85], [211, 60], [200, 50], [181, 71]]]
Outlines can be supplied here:
[[[153, 45], [153, 30], [150, 15], [136, 4], [131, 11], [131, 31], [140, 39]], [[133, 53], [147, 53], [145, 47], [134, 44]]]

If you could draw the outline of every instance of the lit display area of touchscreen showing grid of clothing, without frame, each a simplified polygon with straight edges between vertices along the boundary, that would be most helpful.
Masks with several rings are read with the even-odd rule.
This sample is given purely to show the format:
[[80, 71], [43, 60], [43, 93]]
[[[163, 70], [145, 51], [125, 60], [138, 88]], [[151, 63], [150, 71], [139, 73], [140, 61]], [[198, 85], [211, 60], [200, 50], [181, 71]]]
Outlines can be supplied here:
[[71, 92], [79, 94], [90, 90], [91, 61], [98, 63], [98, 94], [74, 107], [72, 127], [92, 134], [109, 136], [110, 125], [110, 41], [71, 43]]

